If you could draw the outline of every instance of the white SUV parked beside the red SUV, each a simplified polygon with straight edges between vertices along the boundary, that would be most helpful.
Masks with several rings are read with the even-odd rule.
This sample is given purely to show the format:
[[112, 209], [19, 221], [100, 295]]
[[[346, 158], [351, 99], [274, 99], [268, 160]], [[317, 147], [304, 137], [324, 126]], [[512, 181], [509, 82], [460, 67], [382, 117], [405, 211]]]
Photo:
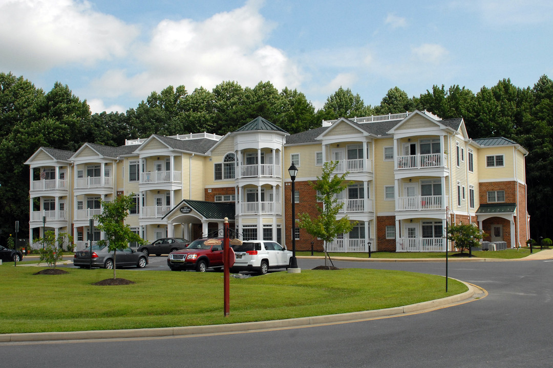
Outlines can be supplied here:
[[292, 252], [277, 242], [252, 240], [231, 246], [236, 254], [232, 272], [257, 271], [266, 274], [270, 268], [286, 268], [290, 265]]

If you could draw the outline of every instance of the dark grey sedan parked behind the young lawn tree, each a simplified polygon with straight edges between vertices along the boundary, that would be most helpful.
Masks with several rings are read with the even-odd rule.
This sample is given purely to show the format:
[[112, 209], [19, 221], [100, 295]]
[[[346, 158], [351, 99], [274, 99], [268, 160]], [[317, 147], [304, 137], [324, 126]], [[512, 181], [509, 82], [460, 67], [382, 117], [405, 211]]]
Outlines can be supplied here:
[[[109, 252], [107, 246], [92, 246], [92, 267], [113, 269], [113, 253]], [[148, 264], [148, 256], [137, 252], [129, 247], [117, 249], [116, 266], [136, 266], [144, 268]], [[75, 252], [73, 264], [80, 268], [90, 267], [90, 247]]]

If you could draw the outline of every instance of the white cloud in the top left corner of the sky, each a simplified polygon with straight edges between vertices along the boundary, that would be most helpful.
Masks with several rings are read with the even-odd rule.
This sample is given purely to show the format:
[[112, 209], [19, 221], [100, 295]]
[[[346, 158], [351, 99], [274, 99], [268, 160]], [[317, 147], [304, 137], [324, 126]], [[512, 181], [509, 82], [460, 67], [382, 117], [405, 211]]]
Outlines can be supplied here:
[[0, 68], [46, 71], [126, 55], [138, 29], [76, 0], [0, 2]]

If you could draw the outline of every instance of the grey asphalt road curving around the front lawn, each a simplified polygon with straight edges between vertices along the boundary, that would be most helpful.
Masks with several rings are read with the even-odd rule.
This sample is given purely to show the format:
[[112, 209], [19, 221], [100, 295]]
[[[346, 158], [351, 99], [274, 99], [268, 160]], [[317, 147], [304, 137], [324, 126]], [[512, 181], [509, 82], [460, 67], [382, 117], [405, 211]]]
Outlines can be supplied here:
[[[310, 269], [322, 261], [299, 259], [298, 263], [301, 268]], [[445, 263], [335, 261], [335, 265], [445, 273]], [[427, 313], [319, 327], [203, 337], [4, 343], [0, 344], [0, 365], [72, 368], [553, 366], [553, 262], [451, 262], [449, 275], [481, 286], [489, 295], [482, 300]]]

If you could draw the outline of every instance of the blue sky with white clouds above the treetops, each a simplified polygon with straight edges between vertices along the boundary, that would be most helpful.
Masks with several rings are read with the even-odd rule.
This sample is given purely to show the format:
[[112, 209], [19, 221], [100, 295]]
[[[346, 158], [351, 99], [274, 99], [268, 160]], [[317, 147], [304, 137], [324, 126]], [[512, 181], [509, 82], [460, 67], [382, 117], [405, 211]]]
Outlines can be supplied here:
[[67, 84], [92, 113], [223, 81], [375, 106], [394, 87], [553, 78], [552, 19], [550, 0], [0, 0], [0, 72]]

